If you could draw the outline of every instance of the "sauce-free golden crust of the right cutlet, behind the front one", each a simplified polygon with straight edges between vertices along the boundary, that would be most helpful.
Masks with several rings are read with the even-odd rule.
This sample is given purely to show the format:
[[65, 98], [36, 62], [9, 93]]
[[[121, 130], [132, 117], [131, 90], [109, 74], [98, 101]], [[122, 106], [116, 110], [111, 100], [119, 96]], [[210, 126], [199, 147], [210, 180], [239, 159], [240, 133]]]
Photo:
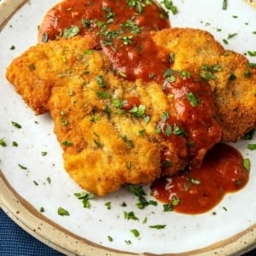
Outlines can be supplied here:
[[[154, 32], [154, 42], [174, 53], [173, 69], [200, 76], [205, 72], [203, 65], [221, 68], [213, 73], [216, 79], [209, 79], [208, 83], [215, 95], [224, 141], [236, 142], [256, 127], [256, 70], [247, 67], [245, 56], [225, 50], [209, 32], [199, 29]], [[248, 71], [250, 76], [245, 74]]]

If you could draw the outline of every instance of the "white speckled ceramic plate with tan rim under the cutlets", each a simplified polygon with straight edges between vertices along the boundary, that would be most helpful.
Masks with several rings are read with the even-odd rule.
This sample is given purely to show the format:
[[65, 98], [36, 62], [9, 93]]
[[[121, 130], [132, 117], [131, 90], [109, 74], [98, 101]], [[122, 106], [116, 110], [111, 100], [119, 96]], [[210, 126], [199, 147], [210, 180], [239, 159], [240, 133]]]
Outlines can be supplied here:
[[[138, 210], [136, 198], [125, 189], [94, 199], [90, 209], [73, 195], [81, 189], [63, 170], [52, 120], [48, 114], [35, 116], [5, 79], [10, 61], [36, 44], [38, 25], [57, 2], [0, 3], [0, 138], [7, 144], [0, 146], [3, 210], [40, 241], [69, 255], [228, 255], [256, 247], [256, 151], [247, 149], [247, 141], [235, 147], [251, 160], [249, 183], [204, 214], [163, 212], [160, 204]], [[232, 0], [223, 10], [223, 0], [173, 1], [179, 13], [170, 15], [172, 26], [205, 29], [221, 43], [236, 33], [224, 46], [246, 54], [256, 50], [256, 9], [247, 2], [252, 1]], [[248, 57], [256, 62], [256, 57]], [[21, 129], [15, 128], [12, 121]], [[255, 136], [250, 143], [256, 143]], [[108, 201], [110, 210], [105, 205]], [[69, 216], [60, 216], [59, 207], [67, 209]], [[40, 212], [43, 208], [44, 212]], [[124, 211], [135, 212], [138, 220], [125, 219]], [[165, 224], [166, 228], [150, 229], [155, 224]], [[140, 236], [133, 236], [132, 229], [138, 230]]]

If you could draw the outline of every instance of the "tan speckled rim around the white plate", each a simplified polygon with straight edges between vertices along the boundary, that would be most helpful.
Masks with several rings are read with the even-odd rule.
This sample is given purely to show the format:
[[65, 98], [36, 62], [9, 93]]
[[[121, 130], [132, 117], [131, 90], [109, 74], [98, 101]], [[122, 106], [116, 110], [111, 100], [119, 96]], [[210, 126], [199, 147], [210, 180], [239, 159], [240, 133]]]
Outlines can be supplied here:
[[[0, 11], [3, 16], [0, 18], [0, 32], [6, 25], [7, 21], [18, 11], [28, 0], [16, 0], [15, 3], [9, 0], [0, 0]], [[6, 212], [9, 218], [15, 221], [23, 230], [31, 236], [43, 242], [49, 247], [54, 248], [60, 253], [67, 255], [103, 256], [108, 253], [111, 256], [129, 256], [129, 255], [153, 255], [152, 253], [129, 253], [103, 247], [94, 242], [73, 234], [64, 229], [59, 224], [55, 224], [49, 218], [21, 197], [11, 186], [9, 181], [4, 177], [0, 169], [0, 207]], [[44, 227], [44, 228], [43, 228]], [[53, 239], [55, 237], [55, 239]], [[207, 247], [201, 247], [196, 250], [184, 253], [165, 253], [161, 255], [216, 255], [225, 253], [232, 255], [235, 253], [247, 253], [256, 248], [256, 224], [251, 225], [246, 230], [230, 236], [229, 238], [213, 243]], [[85, 254], [84, 254], [85, 255]]]

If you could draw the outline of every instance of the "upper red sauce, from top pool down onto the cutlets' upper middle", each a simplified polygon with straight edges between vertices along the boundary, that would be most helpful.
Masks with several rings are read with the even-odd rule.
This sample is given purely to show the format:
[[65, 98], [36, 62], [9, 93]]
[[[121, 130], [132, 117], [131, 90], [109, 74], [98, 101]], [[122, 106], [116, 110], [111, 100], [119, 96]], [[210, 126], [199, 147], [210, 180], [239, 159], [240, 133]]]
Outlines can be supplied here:
[[157, 57], [159, 51], [149, 32], [170, 27], [170, 22], [166, 12], [154, 2], [145, 4], [139, 13], [125, 0], [66, 0], [44, 17], [38, 40], [65, 37], [65, 30], [70, 31], [74, 26], [79, 29], [79, 35], [97, 36], [97, 47], [108, 55], [115, 73], [125, 79], [148, 81], [166, 67], [162, 62], [167, 61], [167, 56], [162, 57], [165, 60]]

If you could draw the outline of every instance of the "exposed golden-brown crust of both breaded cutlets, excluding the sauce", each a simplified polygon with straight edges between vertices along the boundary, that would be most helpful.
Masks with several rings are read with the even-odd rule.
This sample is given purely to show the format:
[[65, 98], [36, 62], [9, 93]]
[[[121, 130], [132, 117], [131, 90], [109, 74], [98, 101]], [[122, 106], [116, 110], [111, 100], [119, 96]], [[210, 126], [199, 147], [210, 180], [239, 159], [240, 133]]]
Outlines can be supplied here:
[[[225, 51], [211, 34], [200, 30], [154, 32], [154, 41], [175, 54], [173, 69], [200, 76], [202, 65], [221, 67], [209, 84], [224, 140], [236, 141], [255, 127], [256, 72], [252, 69], [252, 75], [244, 77], [244, 56]], [[152, 183], [161, 174], [182, 170], [189, 162], [185, 142], [183, 148], [177, 147], [155, 132], [162, 113], [173, 112], [172, 100], [160, 84], [118, 79], [101, 50], [87, 50], [94, 47], [90, 37], [38, 44], [7, 70], [7, 79], [35, 113], [49, 111], [53, 117], [67, 172], [84, 189], [105, 195], [124, 183]], [[235, 80], [230, 80], [230, 73]], [[104, 79], [103, 87], [96, 82], [98, 75]], [[140, 99], [149, 122], [122, 113], [113, 104], [113, 99], [129, 96]], [[165, 148], [171, 152], [172, 166], [161, 173]], [[207, 149], [201, 148], [195, 160], [200, 162]]]

